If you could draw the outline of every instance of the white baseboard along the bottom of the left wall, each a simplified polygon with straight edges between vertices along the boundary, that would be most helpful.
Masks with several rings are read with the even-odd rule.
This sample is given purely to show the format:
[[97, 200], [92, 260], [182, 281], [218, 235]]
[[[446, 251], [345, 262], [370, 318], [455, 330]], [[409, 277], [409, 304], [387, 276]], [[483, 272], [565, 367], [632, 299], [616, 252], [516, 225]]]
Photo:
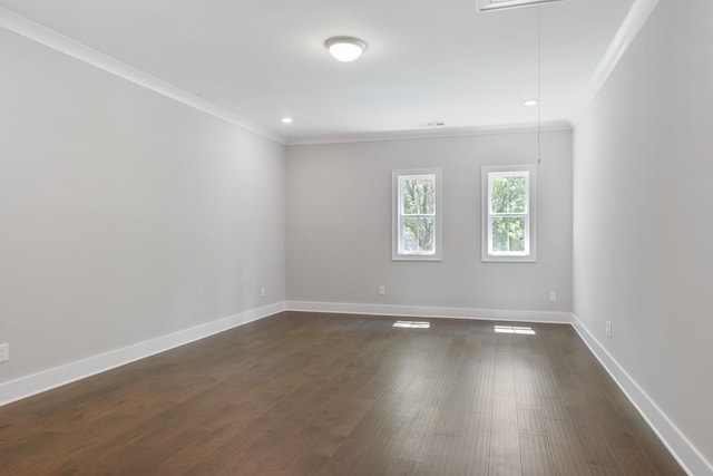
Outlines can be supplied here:
[[0, 406], [276, 314], [284, 309], [284, 302], [276, 302], [2, 382], [0, 383]]

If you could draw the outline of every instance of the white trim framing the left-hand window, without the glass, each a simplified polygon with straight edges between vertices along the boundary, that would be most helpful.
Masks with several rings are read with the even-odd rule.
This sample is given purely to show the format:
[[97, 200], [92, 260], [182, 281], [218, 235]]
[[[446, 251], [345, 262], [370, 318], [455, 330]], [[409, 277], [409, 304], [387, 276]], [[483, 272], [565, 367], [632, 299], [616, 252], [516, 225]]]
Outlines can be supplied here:
[[[442, 222], [443, 222], [443, 204], [442, 204], [442, 179], [440, 168], [416, 168], [392, 171], [391, 173], [391, 259], [393, 261], [441, 261], [442, 260]], [[433, 253], [399, 253], [399, 223], [401, 210], [401, 194], [399, 191], [399, 177], [413, 175], [434, 175], [436, 176], [436, 214], [433, 216]]]

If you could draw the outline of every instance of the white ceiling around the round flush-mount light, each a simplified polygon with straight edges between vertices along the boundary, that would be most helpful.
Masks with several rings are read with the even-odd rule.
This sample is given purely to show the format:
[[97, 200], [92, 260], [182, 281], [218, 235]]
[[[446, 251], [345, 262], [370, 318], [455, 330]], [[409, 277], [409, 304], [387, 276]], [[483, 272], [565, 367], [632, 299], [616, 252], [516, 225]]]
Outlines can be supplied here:
[[[541, 7], [541, 119], [576, 119], [634, 0]], [[286, 143], [537, 120], [537, 7], [477, 0], [0, 0], [11, 10], [255, 123]], [[332, 59], [350, 35], [369, 49]], [[283, 125], [280, 118], [294, 117]]]

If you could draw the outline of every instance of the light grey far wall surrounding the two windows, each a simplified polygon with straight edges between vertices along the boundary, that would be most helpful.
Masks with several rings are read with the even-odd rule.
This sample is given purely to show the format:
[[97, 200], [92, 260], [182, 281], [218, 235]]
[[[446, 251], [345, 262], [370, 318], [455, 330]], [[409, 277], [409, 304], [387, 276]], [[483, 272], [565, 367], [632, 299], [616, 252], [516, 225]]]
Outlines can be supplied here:
[[[537, 263], [480, 261], [480, 166], [536, 150], [529, 133], [287, 147], [287, 299], [570, 311], [570, 132], [544, 135]], [[391, 171], [426, 167], [442, 168], [443, 260], [393, 262]]]

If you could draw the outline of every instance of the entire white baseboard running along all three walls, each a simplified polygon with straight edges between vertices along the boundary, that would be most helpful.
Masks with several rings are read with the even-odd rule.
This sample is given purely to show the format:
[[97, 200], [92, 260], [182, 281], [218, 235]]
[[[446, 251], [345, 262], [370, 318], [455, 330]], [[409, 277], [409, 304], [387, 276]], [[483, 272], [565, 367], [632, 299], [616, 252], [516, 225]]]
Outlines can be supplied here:
[[436, 308], [391, 304], [286, 301], [183, 329], [121, 349], [89, 357], [0, 383], [0, 406], [80, 380], [133, 361], [253, 322], [282, 311], [334, 312], [370, 315], [458, 318], [515, 322], [572, 323], [592, 353], [612, 376], [651, 428], [690, 475], [713, 475], [713, 465], [673, 424], [666, 414], [609, 354], [579, 319], [569, 312], [514, 311], [475, 308]]

